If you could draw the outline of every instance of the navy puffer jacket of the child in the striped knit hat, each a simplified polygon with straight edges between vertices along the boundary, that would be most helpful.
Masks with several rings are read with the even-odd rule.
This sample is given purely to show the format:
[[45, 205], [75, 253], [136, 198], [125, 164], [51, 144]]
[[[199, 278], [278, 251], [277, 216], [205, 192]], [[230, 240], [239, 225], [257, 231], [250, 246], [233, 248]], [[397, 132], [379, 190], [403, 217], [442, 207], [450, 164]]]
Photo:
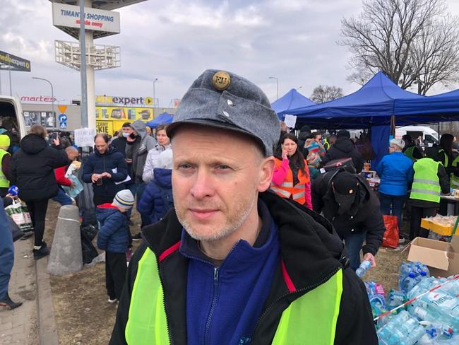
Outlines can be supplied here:
[[97, 247], [107, 252], [125, 253], [129, 247], [128, 218], [112, 204], [97, 206]]

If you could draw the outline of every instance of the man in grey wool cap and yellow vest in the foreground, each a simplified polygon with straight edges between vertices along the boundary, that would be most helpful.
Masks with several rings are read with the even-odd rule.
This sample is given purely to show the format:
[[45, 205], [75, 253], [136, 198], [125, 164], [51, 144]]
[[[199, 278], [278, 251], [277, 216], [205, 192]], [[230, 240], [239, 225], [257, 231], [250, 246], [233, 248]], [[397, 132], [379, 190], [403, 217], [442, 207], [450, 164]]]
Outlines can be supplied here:
[[330, 223], [268, 191], [279, 132], [254, 83], [194, 81], [167, 128], [175, 210], [143, 229], [110, 344], [377, 344]]

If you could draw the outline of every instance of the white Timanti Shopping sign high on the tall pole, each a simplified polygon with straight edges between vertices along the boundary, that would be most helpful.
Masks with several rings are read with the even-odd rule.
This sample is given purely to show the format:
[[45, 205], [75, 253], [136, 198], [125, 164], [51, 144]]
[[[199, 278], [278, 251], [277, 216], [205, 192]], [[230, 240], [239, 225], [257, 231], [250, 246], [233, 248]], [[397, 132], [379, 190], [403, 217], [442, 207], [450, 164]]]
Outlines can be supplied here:
[[[80, 6], [53, 2], [52, 23], [58, 28], [80, 28]], [[85, 7], [85, 29], [119, 33], [119, 13]]]

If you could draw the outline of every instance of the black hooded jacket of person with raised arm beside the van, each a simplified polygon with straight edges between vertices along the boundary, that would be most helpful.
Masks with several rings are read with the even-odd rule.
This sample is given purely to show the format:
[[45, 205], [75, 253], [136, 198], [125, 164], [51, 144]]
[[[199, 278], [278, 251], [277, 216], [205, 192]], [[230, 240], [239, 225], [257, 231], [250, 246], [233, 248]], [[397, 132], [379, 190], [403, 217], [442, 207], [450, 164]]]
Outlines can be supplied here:
[[18, 186], [24, 201], [50, 199], [59, 192], [53, 170], [68, 163], [65, 151], [48, 146], [41, 136], [28, 134], [11, 160], [10, 183]]

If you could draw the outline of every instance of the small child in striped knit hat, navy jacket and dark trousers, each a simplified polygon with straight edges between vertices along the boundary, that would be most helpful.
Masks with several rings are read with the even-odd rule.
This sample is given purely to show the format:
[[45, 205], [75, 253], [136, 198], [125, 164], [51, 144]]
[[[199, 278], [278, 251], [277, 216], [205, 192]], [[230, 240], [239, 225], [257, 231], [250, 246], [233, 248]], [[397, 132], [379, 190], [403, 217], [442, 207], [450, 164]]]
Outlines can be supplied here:
[[129, 189], [115, 195], [112, 204], [97, 206], [97, 247], [105, 250], [105, 286], [109, 303], [115, 303], [126, 276], [126, 251], [129, 247], [129, 224], [126, 212], [132, 208], [134, 197]]

